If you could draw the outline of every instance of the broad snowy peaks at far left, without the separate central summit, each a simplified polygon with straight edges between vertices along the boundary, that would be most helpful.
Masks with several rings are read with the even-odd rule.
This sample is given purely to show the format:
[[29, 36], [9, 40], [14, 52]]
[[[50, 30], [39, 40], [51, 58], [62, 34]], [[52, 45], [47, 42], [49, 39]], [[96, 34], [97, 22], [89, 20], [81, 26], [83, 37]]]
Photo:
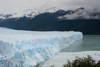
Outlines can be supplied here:
[[0, 19], [10, 19], [10, 18], [21, 18], [21, 17], [27, 17], [27, 18], [34, 18], [36, 15], [38, 15], [39, 12], [34, 11], [32, 9], [28, 9], [25, 11], [21, 11], [18, 13], [13, 14], [0, 14]]

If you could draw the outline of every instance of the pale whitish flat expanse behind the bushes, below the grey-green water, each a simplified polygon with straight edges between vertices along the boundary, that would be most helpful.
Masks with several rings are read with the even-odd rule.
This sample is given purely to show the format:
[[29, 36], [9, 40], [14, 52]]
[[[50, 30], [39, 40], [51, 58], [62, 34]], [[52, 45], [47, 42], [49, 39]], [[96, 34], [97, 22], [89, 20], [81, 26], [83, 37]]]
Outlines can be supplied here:
[[76, 56], [87, 57], [90, 55], [94, 60], [100, 61], [100, 51], [82, 51], [82, 52], [61, 52], [55, 55], [53, 58], [45, 61], [41, 66], [50, 67], [54, 65], [55, 67], [63, 67], [67, 63], [67, 60], [74, 60]]

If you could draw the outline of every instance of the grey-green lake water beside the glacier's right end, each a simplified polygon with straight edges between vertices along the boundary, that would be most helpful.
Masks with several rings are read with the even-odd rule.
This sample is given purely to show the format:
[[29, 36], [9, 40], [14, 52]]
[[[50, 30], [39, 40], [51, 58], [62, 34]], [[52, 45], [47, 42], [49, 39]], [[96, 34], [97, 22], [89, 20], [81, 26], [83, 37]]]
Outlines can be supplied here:
[[84, 35], [79, 40], [61, 52], [100, 51], [100, 35]]

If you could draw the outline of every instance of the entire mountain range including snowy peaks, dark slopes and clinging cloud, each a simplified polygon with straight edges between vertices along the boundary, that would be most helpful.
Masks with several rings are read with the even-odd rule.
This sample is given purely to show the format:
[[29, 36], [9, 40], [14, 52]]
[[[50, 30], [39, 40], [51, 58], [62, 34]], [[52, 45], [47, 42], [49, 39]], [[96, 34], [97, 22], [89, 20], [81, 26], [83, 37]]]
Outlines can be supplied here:
[[45, 12], [32, 9], [14, 14], [0, 14], [0, 27], [30, 31], [81, 31], [86, 35], [100, 34], [100, 11], [81, 7], [62, 10], [56, 7]]

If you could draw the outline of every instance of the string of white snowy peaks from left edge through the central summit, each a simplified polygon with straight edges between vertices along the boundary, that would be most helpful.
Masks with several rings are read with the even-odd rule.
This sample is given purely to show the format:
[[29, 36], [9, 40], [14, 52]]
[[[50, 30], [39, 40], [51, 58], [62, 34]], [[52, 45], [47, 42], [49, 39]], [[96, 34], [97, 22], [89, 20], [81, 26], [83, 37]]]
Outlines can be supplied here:
[[[59, 9], [57, 9], [56, 7], [52, 7], [50, 9], [47, 9], [45, 12], [49, 12], [49, 13], [54, 13], [56, 11], [58, 11]], [[0, 19], [10, 19], [10, 18], [21, 18], [21, 17], [27, 17], [27, 18], [34, 18], [36, 15], [40, 14], [40, 13], [45, 13], [45, 12], [37, 12], [34, 11], [32, 9], [27, 9], [25, 11], [21, 11], [21, 12], [17, 12], [17, 13], [13, 13], [13, 14], [0, 14]]]

